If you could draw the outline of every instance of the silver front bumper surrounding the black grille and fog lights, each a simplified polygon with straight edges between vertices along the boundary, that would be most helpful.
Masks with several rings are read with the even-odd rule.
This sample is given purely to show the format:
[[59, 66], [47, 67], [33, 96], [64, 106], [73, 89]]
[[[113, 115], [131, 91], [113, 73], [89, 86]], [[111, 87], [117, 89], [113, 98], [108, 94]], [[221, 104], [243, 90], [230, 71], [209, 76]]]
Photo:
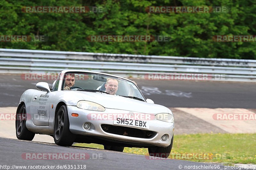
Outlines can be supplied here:
[[[114, 139], [118, 143], [118, 141], [124, 141], [124, 142], [130, 142], [134, 143], [140, 143], [145, 145], [155, 145], [155, 146], [162, 146], [167, 147], [171, 144], [171, 139], [173, 136], [174, 131], [174, 122], [164, 122], [160, 120], [153, 119], [150, 116], [150, 120], [144, 120], [147, 121], [147, 124], [149, 125], [149, 129], [142, 129], [140, 127], [131, 127], [126, 125], [116, 125], [113, 124], [113, 119], [94, 119], [92, 120], [90, 118], [90, 114], [128, 114], [130, 111], [127, 110], [116, 110], [116, 109], [108, 109], [106, 108], [105, 111], [91, 111], [91, 110], [84, 110], [77, 108], [76, 106], [67, 106], [68, 108], [68, 118], [69, 118], [69, 129], [72, 133], [78, 134], [78, 135], [85, 135], [85, 136], [95, 136], [95, 137], [103, 137], [108, 139]], [[78, 117], [71, 116], [72, 113], [77, 113]], [[144, 114], [144, 113], [140, 113]], [[85, 130], [83, 125], [84, 123], [89, 123], [90, 128], [88, 130]], [[123, 126], [123, 127], [129, 127], [129, 128], [135, 128], [140, 129], [143, 131], [154, 131], [154, 136], [151, 138], [139, 138], [139, 137], [130, 137], [125, 135], [118, 135], [114, 133], [108, 133], [105, 132], [101, 125], [107, 124], [107, 125], [113, 125], [113, 126]], [[125, 134], [125, 133], [124, 133]], [[161, 138], [163, 135], [167, 135], [168, 139], [166, 141], [163, 141]]]

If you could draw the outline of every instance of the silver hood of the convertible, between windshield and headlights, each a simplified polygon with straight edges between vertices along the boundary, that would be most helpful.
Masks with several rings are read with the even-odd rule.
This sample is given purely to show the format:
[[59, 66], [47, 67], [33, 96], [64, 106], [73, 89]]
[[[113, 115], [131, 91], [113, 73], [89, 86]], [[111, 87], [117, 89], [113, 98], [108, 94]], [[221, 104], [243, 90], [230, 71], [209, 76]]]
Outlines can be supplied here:
[[168, 109], [165, 106], [151, 104], [127, 97], [109, 95], [99, 92], [76, 91], [76, 93], [79, 93], [84, 100], [98, 103], [108, 109], [128, 110], [154, 115], [157, 113], [168, 113]]

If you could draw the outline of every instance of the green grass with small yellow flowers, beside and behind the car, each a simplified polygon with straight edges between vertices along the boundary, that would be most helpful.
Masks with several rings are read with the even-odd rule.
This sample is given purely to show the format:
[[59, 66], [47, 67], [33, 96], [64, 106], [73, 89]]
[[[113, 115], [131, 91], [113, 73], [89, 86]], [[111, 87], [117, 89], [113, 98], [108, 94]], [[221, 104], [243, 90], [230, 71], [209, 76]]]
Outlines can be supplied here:
[[[103, 145], [76, 144], [103, 149]], [[124, 148], [124, 152], [148, 155], [147, 148]], [[256, 134], [174, 135], [168, 159], [197, 162], [256, 164]]]

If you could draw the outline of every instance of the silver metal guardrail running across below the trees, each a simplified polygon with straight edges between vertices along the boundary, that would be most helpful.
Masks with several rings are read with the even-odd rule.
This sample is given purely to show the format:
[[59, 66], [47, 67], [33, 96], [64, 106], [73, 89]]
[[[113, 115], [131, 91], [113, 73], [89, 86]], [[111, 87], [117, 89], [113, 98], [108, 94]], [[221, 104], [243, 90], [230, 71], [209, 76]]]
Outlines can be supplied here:
[[256, 82], [256, 60], [0, 48], [0, 73], [52, 73], [63, 69], [87, 69], [124, 77], [149, 73], [225, 74], [225, 81]]

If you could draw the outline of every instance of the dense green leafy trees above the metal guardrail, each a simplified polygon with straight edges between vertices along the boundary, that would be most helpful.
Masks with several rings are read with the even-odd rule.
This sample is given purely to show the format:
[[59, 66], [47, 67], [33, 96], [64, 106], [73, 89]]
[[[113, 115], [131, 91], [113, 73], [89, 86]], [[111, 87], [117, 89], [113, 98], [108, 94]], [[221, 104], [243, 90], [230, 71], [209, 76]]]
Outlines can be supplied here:
[[[102, 13], [24, 13], [24, 6], [98, 6]], [[225, 6], [226, 13], [147, 13], [148, 6]], [[255, 42], [215, 35], [256, 35], [254, 0], [0, 0], [0, 35], [44, 35], [46, 42], [1, 48], [256, 59]], [[168, 42], [89, 42], [90, 35], [163, 35]]]

